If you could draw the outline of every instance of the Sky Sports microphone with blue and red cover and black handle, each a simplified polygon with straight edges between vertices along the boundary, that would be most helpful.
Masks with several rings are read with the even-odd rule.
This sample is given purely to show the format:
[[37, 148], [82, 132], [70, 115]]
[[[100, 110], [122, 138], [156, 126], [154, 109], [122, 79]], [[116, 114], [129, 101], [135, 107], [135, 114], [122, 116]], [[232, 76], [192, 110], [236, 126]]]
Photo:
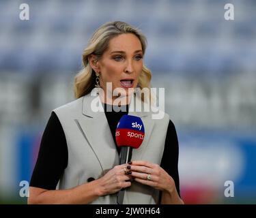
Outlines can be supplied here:
[[[145, 136], [144, 125], [139, 116], [124, 115], [117, 123], [115, 140], [121, 147], [119, 164], [128, 163], [132, 159], [132, 149], [141, 146]], [[124, 191], [121, 189], [117, 195], [117, 204], [123, 204]]]

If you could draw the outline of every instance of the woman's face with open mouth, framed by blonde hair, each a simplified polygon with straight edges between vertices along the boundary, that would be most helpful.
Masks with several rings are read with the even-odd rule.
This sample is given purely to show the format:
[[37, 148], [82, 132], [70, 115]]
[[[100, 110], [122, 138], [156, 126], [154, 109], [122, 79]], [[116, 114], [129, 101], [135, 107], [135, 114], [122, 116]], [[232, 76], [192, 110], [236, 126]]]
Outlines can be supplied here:
[[112, 91], [121, 87], [128, 95], [129, 88], [137, 87], [143, 68], [141, 41], [132, 33], [117, 35], [109, 41], [109, 48], [96, 65], [104, 93], [106, 82], [112, 82]]

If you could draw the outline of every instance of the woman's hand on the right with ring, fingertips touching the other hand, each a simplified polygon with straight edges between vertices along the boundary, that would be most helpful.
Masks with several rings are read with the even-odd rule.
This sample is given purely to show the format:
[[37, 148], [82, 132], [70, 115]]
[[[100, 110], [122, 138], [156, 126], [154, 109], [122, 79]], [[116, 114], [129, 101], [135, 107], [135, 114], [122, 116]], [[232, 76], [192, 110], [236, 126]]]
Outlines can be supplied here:
[[134, 180], [144, 185], [150, 185], [160, 191], [173, 193], [175, 182], [173, 178], [158, 164], [148, 161], [132, 161], [132, 165], [126, 167], [132, 172]]

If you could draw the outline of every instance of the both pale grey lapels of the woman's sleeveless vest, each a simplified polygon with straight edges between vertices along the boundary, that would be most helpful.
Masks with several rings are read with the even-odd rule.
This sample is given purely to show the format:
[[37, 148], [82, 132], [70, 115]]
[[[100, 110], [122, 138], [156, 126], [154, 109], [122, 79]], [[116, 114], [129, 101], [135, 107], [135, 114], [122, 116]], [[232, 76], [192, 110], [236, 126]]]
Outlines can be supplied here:
[[[136, 99], [133, 97], [131, 98], [131, 103], [141, 100], [139, 97]], [[91, 110], [91, 103], [92, 101], [99, 102], [98, 105], [100, 112], [94, 112]], [[137, 104], [137, 103], [136, 103]], [[139, 116], [143, 121], [144, 129], [145, 129], [145, 138], [143, 143], [139, 147], [139, 149], [134, 149], [132, 151], [132, 159], [143, 159], [143, 154], [146, 151], [148, 140], [150, 139], [150, 135], [152, 134], [152, 129], [154, 127], [154, 120], [150, 117], [150, 112], [137, 112], [134, 108], [131, 108], [131, 104], [129, 106], [129, 115]], [[130, 111], [130, 109], [132, 111]], [[111, 130], [109, 128], [109, 123], [106, 119], [106, 115], [104, 113], [104, 109], [100, 102], [99, 96], [90, 96], [85, 95], [83, 97], [83, 108], [82, 108], [83, 117], [78, 119], [79, 125], [81, 127], [81, 131], [83, 131], [83, 135], [87, 140], [89, 146], [94, 151], [100, 166], [102, 168], [102, 172], [104, 170], [108, 170], [113, 168], [113, 166], [119, 164], [119, 156], [117, 150], [115, 148], [115, 142], [113, 140]]]

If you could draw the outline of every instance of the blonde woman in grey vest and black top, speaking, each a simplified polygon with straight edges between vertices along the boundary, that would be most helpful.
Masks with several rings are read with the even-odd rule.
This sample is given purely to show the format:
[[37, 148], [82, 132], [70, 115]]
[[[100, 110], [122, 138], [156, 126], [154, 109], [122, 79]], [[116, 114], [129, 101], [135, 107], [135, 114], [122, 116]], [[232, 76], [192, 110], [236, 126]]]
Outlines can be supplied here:
[[[150, 88], [145, 48], [143, 34], [126, 22], [107, 22], [96, 30], [83, 52], [84, 68], [74, 79], [76, 100], [53, 110], [44, 130], [29, 204], [116, 204], [123, 188], [124, 204], [183, 204], [177, 135], [168, 114], [154, 120], [150, 112], [133, 113], [143, 120], [145, 139], [132, 162], [119, 165], [115, 128], [130, 114], [130, 90]], [[95, 87], [104, 95], [91, 95]], [[122, 104], [115, 103], [118, 95], [107, 95], [115, 89], [123, 90]], [[145, 98], [151, 99], [141, 95], [139, 100]], [[103, 112], [92, 110], [95, 99]]]

